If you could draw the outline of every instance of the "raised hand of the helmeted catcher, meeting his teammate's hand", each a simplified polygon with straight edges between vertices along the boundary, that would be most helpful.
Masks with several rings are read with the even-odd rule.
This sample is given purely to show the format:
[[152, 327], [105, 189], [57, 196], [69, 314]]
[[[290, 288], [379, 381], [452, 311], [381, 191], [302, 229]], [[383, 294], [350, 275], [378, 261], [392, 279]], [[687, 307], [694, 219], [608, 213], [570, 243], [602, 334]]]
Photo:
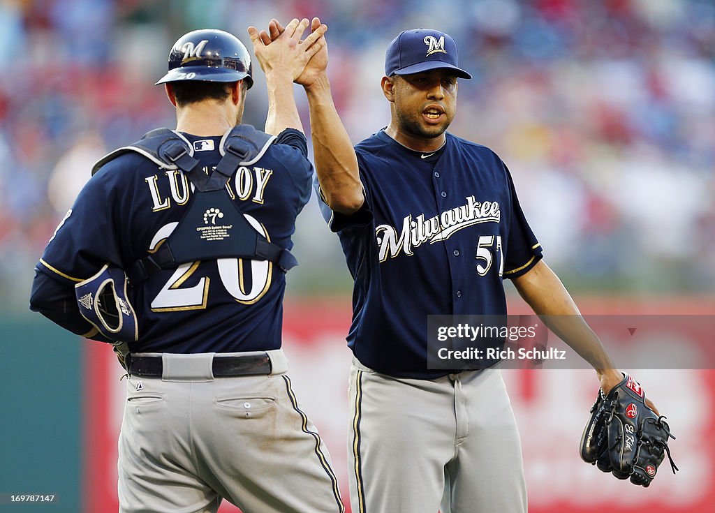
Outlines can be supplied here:
[[292, 19], [283, 27], [276, 19], [272, 19], [268, 31], [259, 32], [254, 26], [248, 27], [254, 54], [266, 76], [287, 74], [291, 81], [302, 76], [311, 57], [325, 47], [323, 34], [327, 26], [320, 23], [309, 36], [301, 40], [309, 24], [307, 19]]

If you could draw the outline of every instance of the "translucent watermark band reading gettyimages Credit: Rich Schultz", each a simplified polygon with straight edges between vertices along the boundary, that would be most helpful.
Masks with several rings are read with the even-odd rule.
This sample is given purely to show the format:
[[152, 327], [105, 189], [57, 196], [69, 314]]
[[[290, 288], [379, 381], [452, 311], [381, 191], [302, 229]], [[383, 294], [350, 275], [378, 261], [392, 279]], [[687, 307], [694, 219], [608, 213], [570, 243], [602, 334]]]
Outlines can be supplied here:
[[[588, 324], [622, 369], [715, 369], [715, 315], [431, 315], [429, 369], [588, 369], [557, 333]], [[576, 329], [578, 328], [578, 329]]]

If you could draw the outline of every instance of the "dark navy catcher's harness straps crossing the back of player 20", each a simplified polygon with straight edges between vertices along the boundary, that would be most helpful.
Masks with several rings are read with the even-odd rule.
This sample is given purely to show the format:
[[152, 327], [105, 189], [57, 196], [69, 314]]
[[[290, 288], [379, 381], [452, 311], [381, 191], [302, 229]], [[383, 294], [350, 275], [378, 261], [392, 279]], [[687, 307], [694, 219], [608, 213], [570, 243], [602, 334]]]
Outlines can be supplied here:
[[173, 130], [156, 129], [94, 164], [92, 174], [117, 156], [135, 151], [161, 169], [181, 169], [195, 188], [184, 215], [164, 243], [127, 269], [133, 284], [143, 282], [159, 269], [175, 269], [197, 260], [267, 260], [283, 272], [297, 265], [290, 251], [268, 241], [248, 223], [226, 187], [240, 166], [254, 164], [274, 141], [275, 136], [251, 125], [236, 126], [221, 139], [222, 159], [214, 171], [206, 174], [193, 158], [186, 139]]

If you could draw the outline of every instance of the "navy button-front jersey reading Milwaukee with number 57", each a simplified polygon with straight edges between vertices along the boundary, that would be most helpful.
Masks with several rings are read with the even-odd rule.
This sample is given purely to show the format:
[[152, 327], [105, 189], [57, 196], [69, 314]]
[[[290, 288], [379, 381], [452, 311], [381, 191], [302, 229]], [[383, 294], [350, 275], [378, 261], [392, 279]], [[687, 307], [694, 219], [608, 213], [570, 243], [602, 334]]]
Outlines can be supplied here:
[[427, 367], [428, 315], [504, 315], [503, 279], [541, 259], [503, 161], [446, 136], [424, 154], [378, 132], [355, 146], [362, 208], [343, 216], [321, 201], [355, 280], [348, 345], [395, 377], [448, 374]]

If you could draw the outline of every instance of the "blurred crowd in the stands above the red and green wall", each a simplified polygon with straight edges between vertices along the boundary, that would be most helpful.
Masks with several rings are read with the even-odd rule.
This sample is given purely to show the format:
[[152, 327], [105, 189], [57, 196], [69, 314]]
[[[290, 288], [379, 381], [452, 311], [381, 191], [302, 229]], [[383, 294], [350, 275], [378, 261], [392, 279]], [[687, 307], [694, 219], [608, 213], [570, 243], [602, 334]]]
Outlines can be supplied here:
[[[385, 47], [452, 35], [450, 131], [508, 164], [547, 262], [567, 286], [619, 294], [715, 287], [712, 0], [0, 0], [0, 301], [26, 311], [32, 267], [94, 161], [174, 126], [162, 87], [184, 32], [272, 17], [329, 26], [333, 94], [354, 142], [385, 126]], [[244, 121], [265, 122], [258, 66]], [[296, 96], [307, 129], [305, 94]], [[315, 198], [295, 235], [291, 294], [347, 292]]]

